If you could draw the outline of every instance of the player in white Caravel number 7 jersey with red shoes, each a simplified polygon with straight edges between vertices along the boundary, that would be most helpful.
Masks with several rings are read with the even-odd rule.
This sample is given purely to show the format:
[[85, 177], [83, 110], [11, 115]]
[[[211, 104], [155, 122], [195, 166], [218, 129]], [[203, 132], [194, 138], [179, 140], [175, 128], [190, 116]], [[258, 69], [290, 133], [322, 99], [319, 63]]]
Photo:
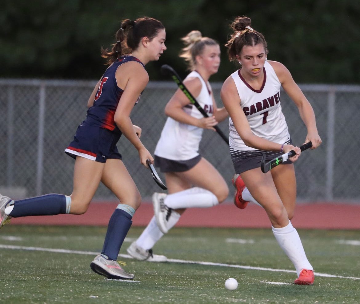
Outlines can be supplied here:
[[[265, 38], [251, 28], [250, 18], [235, 18], [231, 29], [234, 32], [226, 46], [230, 61], [240, 63], [240, 69], [225, 80], [221, 99], [230, 115], [230, 154], [239, 175], [233, 179], [237, 188], [234, 202], [245, 207], [247, 201], [256, 200], [264, 207], [276, 240], [296, 268], [298, 278], [294, 284], [312, 285], [312, 265], [290, 222], [296, 203], [293, 162], [301, 151], [291, 144], [280, 105], [280, 87], [296, 104], [307, 128], [305, 142], [311, 141], [312, 149], [321, 143], [314, 111], [288, 69], [280, 62], [267, 61]], [[290, 161], [262, 173], [263, 153], [269, 161], [291, 150], [296, 155]]]

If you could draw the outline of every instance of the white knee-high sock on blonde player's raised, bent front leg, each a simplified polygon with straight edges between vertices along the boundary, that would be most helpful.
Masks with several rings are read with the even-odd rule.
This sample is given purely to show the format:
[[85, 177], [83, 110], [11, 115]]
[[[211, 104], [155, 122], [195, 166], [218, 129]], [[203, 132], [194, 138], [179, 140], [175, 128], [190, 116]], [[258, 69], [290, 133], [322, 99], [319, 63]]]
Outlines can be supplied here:
[[172, 209], [208, 208], [219, 204], [217, 197], [212, 192], [199, 187], [169, 194], [164, 202]]

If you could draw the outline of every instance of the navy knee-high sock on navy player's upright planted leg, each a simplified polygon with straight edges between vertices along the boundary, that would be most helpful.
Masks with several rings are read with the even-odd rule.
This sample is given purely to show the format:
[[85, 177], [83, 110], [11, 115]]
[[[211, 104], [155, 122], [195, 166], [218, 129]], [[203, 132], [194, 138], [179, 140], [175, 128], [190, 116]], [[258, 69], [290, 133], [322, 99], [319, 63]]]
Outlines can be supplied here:
[[132, 224], [132, 216], [124, 210], [115, 209], [106, 232], [102, 254], [117, 260], [121, 245]]

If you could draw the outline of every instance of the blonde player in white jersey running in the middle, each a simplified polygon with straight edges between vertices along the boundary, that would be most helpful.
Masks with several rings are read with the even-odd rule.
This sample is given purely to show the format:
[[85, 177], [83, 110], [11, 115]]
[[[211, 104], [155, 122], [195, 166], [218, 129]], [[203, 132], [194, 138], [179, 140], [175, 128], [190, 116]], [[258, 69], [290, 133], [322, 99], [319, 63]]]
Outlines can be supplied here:
[[225, 108], [217, 108], [208, 82], [220, 65], [220, 46], [201, 32], [192, 31], [182, 39], [185, 48], [180, 57], [188, 63], [184, 84], [208, 113], [205, 118], [178, 89], [165, 107], [169, 116], [157, 143], [155, 165], [165, 174], [168, 195], [154, 193], [154, 216], [138, 240], [127, 252], [136, 259], [166, 261], [153, 255], [152, 247], [179, 220], [186, 208], [208, 208], [228, 197], [229, 189], [220, 173], [199, 155], [203, 129], [214, 130], [228, 117]]

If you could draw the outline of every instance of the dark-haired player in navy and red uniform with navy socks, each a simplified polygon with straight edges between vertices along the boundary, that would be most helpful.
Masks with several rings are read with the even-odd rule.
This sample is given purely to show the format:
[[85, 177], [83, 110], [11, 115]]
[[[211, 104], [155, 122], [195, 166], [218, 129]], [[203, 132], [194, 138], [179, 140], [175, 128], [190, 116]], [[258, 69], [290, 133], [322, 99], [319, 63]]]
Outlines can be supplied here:
[[153, 162], [154, 158], [141, 143], [141, 129], [132, 125], [130, 113], [149, 81], [145, 64], [157, 61], [165, 50], [165, 28], [160, 21], [143, 17], [122, 22], [112, 49], [102, 49], [109, 67], [89, 98], [86, 119], [65, 149], [75, 158], [73, 192], [69, 196], [48, 194], [17, 201], [0, 195], [0, 228], [12, 217], [83, 214], [102, 182], [120, 204], [109, 220], [103, 250], [90, 267], [107, 278], [134, 278], [134, 274], [120, 266], [124, 263], [117, 262], [117, 256], [141, 196], [116, 143], [125, 135], [138, 150], [141, 164], [148, 167], [147, 159]]

